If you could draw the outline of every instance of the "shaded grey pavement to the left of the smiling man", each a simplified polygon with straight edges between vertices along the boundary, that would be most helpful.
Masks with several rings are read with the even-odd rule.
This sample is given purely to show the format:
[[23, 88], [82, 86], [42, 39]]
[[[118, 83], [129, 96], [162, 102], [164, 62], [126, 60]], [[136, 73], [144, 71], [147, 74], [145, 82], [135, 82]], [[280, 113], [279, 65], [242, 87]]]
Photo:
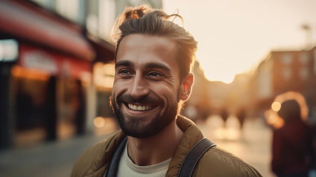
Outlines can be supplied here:
[[0, 176], [70, 176], [79, 155], [109, 135], [85, 135], [69, 140], [0, 151]]

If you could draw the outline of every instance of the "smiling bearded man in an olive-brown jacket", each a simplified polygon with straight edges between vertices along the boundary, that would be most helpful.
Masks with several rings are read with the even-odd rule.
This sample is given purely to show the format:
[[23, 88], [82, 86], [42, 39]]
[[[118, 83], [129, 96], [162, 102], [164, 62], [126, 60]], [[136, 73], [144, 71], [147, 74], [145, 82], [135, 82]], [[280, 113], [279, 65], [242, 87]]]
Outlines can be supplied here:
[[[111, 103], [122, 131], [85, 151], [72, 176], [176, 176], [186, 154], [203, 138], [192, 121], [179, 115], [191, 94], [197, 42], [170, 17], [181, 18], [140, 6], [126, 9], [117, 20]], [[214, 147], [193, 176], [261, 175]]]

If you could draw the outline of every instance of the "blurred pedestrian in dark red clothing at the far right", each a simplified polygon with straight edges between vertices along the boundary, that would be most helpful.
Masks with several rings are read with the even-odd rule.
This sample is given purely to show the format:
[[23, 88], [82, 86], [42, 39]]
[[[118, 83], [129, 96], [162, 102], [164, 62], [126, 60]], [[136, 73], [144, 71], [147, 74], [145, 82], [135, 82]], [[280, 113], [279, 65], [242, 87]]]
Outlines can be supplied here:
[[284, 101], [278, 114], [284, 126], [273, 131], [272, 171], [278, 177], [307, 177], [313, 158], [311, 126], [302, 120], [295, 99]]

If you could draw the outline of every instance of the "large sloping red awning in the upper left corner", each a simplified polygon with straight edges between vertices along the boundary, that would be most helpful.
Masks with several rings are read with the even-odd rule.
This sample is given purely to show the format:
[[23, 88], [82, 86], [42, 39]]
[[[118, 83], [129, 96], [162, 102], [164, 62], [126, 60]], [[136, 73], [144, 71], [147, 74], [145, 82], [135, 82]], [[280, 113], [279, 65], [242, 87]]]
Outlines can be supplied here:
[[23, 1], [0, 1], [0, 31], [55, 48], [86, 61], [95, 53], [80, 29]]

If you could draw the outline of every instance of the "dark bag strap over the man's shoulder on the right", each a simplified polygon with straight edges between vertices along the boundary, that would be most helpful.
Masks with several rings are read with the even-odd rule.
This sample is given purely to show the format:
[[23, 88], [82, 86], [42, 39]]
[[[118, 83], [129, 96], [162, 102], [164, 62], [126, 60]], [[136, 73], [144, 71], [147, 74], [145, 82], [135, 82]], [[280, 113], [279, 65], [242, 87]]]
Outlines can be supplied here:
[[216, 146], [216, 144], [207, 138], [203, 138], [197, 142], [185, 156], [180, 167], [178, 177], [192, 176], [194, 167], [198, 160], [208, 149], [212, 148], [213, 146]]

